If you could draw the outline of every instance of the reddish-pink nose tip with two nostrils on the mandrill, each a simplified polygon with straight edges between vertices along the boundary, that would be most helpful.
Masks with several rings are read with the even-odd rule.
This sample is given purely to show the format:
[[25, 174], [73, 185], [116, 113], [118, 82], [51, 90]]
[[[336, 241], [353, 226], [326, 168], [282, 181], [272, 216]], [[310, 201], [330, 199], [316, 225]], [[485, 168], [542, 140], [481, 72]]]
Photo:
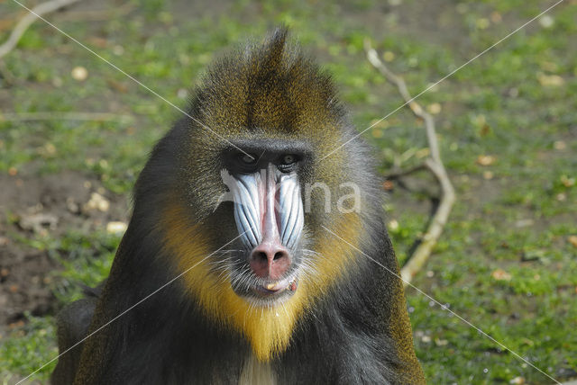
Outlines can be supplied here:
[[249, 264], [256, 276], [277, 281], [289, 270], [290, 255], [287, 249], [279, 244], [262, 242], [252, 250]]

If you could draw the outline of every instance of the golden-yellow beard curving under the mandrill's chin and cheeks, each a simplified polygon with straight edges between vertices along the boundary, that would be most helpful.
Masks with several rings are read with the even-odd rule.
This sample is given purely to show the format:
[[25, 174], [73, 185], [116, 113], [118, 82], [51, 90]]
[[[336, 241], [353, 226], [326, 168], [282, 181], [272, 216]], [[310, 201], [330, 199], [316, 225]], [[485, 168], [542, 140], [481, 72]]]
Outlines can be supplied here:
[[[315, 271], [301, 274], [298, 289], [288, 299], [270, 307], [259, 307], [239, 297], [226, 274], [211, 271], [206, 234], [198, 224], [191, 225], [180, 207], [164, 210], [162, 224], [166, 230], [164, 247], [174, 255], [184, 287], [198, 301], [206, 316], [241, 333], [251, 344], [254, 355], [261, 361], [284, 352], [289, 346], [298, 318], [304, 317], [308, 307], [347, 270], [353, 259], [353, 247], [337, 237], [322, 237], [314, 245], [318, 253], [313, 262]], [[343, 214], [332, 231], [353, 246], [358, 245], [356, 213]], [[229, 241], [230, 239], [227, 239]], [[191, 266], [195, 266], [191, 269]]]

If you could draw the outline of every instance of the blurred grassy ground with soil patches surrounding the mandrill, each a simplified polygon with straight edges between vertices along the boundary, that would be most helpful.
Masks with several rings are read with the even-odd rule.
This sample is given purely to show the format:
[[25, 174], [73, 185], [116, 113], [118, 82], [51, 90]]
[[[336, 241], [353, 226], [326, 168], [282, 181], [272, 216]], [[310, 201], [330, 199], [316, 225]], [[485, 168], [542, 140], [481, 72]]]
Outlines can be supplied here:
[[[40, 4], [26, 1], [27, 6]], [[194, 4], [191, 4], [194, 3]], [[542, 0], [79, 1], [45, 17], [184, 108], [226, 49], [285, 23], [333, 74], [364, 130], [403, 102], [380, 59], [419, 94], [548, 6]], [[0, 0], [0, 44], [27, 11]], [[457, 201], [413, 283], [559, 381], [577, 377], [577, 1], [531, 22], [418, 97], [436, 122]], [[0, 58], [0, 377], [56, 356], [54, 316], [105, 278], [151, 146], [179, 112], [45, 22]], [[428, 155], [406, 108], [363, 136], [380, 171]], [[391, 181], [404, 264], [438, 202], [424, 173]], [[549, 384], [408, 288], [431, 384]], [[47, 383], [55, 363], [33, 377]]]

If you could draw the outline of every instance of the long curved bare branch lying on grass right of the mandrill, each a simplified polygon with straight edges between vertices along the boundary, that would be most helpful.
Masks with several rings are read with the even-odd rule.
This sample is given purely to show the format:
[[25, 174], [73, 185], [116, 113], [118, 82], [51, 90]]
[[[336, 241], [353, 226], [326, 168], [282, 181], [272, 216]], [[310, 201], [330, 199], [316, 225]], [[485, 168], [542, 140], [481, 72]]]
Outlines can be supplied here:
[[[371, 48], [371, 43], [369, 40], [365, 40], [365, 51], [367, 53], [367, 58], [371, 65], [380, 71], [380, 74], [385, 76], [389, 83], [397, 86], [399, 94], [403, 97], [411, 112], [418, 118], [421, 118], [425, 122], [426, 129], [426, 139], [428, 146], [431, 150], [430, 157], [425, 160], [424, 165], [433, 175], [435, 175], [436, 180], [441, 185], [441, 201], [439, 206], [435, 210], [435, 215], [431, 220], [426, 233], [422, 238], [422, 241], [417, 249], [408, 259], [408, 263], [403, 266], [400, 271], [400, 275], [403, 279], [405, 285], [411, 282], [415, 274], [423, 267], [428, 259], [429, 255], [436, 245], [437, 240], [441, 237], [443, 233], [443, 228], [447, 223], [451, 209], [453, 208], [453, 203], [455, 201], [455, 194], [453, 189], [453, 184], [449, 180], [446, 170], [444, 169], [443, 161], [441, 160], [441, 153], [439, 151], [439, 144], [436, 139], [435, 131], [435, 120], [430, 113], [426, 112], [417, 102], [412, 100], [413, 98], [408, 93], [407, 85], [402, 77], [392, 73], [389, 68], [380, 60], [379, 54], [375, 49]], [[402, 175], [412, 173], [421, 169], [422, 166], [416, 166], [403, 172]], [[399, 175], [399, 173], [396, 173]]]

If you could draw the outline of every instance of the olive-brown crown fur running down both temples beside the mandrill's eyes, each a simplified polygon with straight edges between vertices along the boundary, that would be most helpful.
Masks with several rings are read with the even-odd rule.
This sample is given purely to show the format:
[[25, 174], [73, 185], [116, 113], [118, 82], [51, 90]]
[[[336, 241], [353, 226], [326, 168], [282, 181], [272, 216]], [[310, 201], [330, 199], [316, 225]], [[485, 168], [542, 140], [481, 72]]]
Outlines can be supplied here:
[[[215, 191], [225, 193], [219, 179], [224, 168], [218, 158], [234, 139], [304, 139], [313, 146], [315, 175], [310, 180], [329, 186], [342, 182], [346, 151], [345, 112], [337, 102], [331, 77], [279, 28], [261, 44], [249, 44], [225, 55], [207, 71], [197, 88], [189, 113], [202, 125], [188, 121], [189, 142], [183, 157], [188, 167], [181, 179], [198, 207], [215, 207]], [[332, 170], [340, 168], [343, 174]], [[210, 212], [197, 212], [206, 217]]]

